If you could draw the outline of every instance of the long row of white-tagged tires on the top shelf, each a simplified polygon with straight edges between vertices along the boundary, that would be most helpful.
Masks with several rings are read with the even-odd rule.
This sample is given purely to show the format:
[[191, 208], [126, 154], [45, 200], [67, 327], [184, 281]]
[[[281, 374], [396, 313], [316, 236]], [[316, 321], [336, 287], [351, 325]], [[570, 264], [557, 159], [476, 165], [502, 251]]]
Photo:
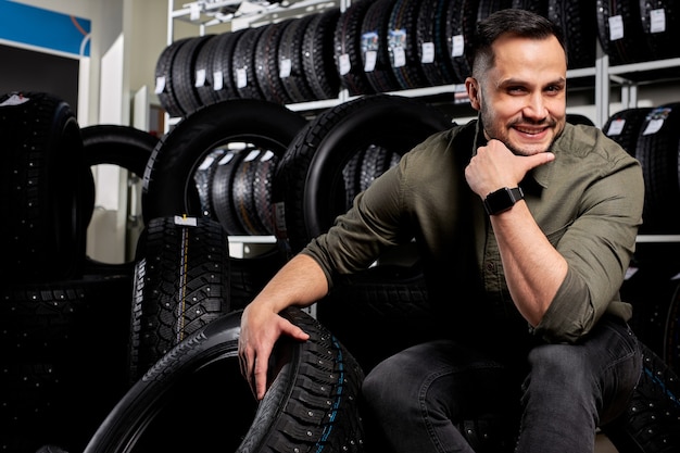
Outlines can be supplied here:
[[680, 55], [672, 1], [358, 0], [297, 18], [168, 45], [155, 67], [176, 117], [226, 99], [298, 103], [462, 84], [476, 24], [493, 11], [531, 10], [565, 30], [569, 68]]

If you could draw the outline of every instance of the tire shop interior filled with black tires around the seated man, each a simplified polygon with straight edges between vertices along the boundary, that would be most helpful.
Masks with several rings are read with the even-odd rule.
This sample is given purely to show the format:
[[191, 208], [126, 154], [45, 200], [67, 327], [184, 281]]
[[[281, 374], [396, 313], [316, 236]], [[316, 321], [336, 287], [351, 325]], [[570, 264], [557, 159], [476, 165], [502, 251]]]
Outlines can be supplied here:
[[[680, 1], [0, 0], [0, 452], [366, 452], [363, 376], [433, 322], [414, 251], [285, 314], [317, 341], [280, 345], [262, 404], [239, 314], [476, 117], [468, 37], [506, 8], [562, 25], [567, 121], [643, 171], [620, 290], [643, 374], [594, 451], [680, 451]], [[476, 451], [512, 451], [486, 421]]]

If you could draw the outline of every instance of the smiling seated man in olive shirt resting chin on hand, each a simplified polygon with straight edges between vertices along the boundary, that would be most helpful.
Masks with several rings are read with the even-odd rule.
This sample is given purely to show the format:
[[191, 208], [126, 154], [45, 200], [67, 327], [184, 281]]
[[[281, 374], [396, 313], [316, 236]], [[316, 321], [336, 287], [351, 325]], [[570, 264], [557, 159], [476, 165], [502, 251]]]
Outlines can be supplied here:
[[471, 452], [466, 417], [520, 408], [517, 452], [592, 452], [641, 369], [618, 290], [641, 223], [640, 167], [589, 126], [566, 124], [561, 30], [521, 10], [478, 25], [465, 81], [477, 121], [429, 137], [357, 196], [247, 306], [240, 356], [256, 398], [277, 315], [322, 299], [338, 273], [415, 238], [442, 339], [372, 369], [363, 395], [381, 451]]

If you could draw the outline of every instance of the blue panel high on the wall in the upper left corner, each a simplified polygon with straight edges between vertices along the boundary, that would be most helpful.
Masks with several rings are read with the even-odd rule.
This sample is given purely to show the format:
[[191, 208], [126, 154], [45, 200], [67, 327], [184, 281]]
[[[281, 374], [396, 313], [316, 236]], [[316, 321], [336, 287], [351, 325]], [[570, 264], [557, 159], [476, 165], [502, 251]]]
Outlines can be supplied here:
[[90, 21], [0, 0], [0, 39], [90, 55]]

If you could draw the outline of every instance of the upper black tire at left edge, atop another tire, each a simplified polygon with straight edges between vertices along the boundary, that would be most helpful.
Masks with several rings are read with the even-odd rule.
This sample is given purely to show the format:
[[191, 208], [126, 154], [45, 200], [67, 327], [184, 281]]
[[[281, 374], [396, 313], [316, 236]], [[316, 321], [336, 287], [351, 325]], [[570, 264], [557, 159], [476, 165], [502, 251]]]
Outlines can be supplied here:
[[71, 106], [43, 92], [0, 96], [0, 238], [9, 264], [0, 279], [75, 278], [86, 243], [81, 197], [91, 186]]

